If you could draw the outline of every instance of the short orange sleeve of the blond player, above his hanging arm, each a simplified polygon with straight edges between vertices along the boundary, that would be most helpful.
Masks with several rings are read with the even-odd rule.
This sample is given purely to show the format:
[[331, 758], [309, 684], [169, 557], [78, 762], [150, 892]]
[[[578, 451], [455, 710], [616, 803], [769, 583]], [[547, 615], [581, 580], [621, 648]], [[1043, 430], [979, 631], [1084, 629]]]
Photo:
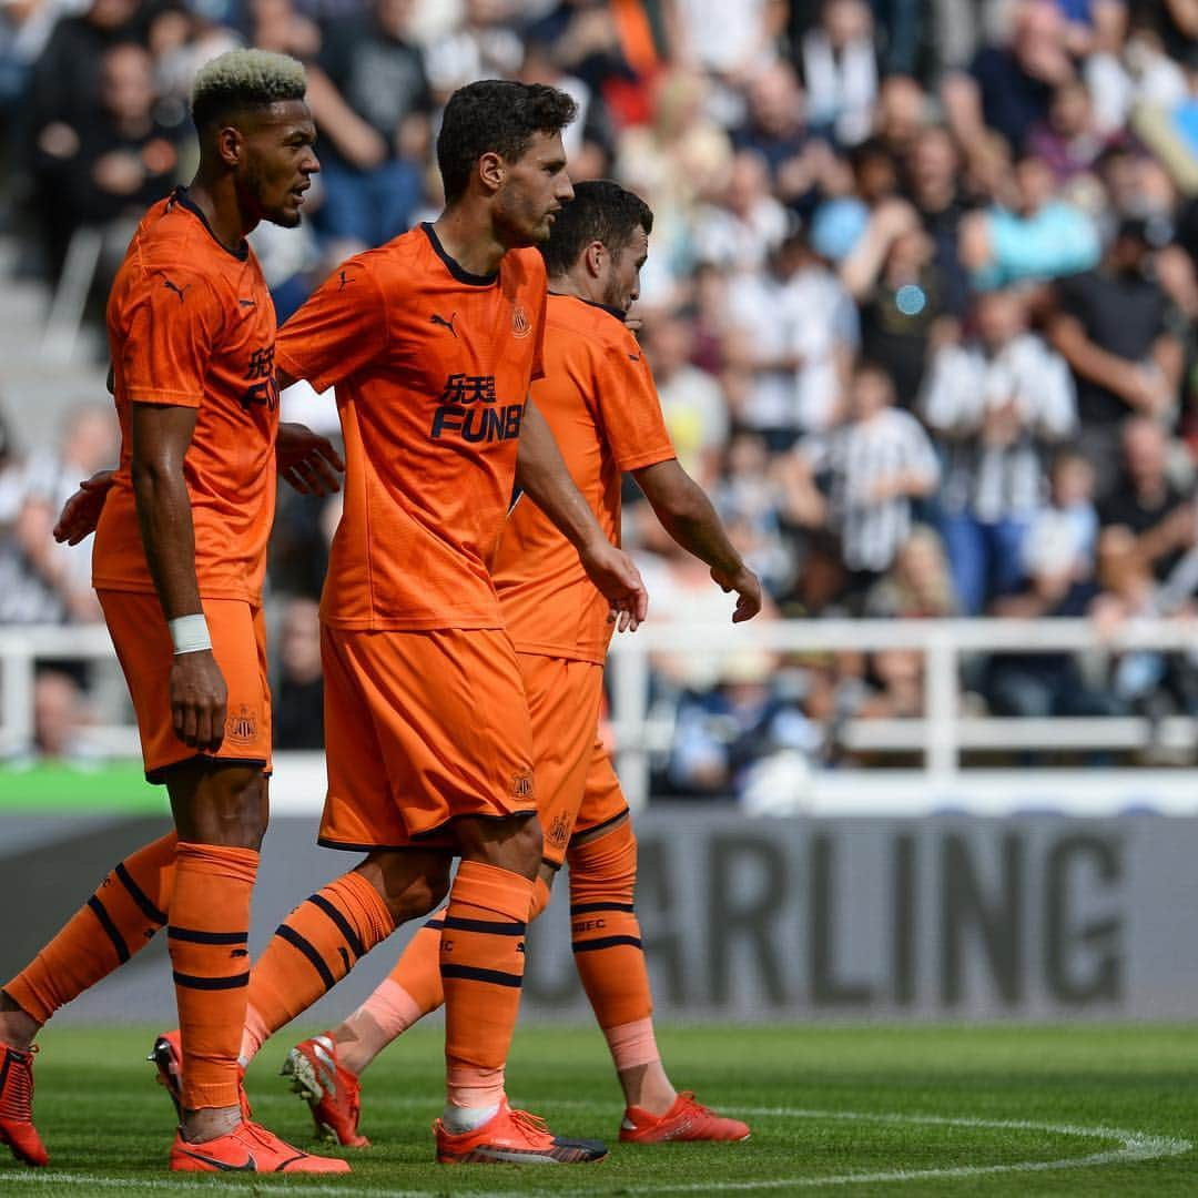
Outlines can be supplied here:
[[134, 404], [199, 407], [224, 310], [211, 283], [177, 268], [156, 268], [134, 284], [121, 345], [121, 383]]

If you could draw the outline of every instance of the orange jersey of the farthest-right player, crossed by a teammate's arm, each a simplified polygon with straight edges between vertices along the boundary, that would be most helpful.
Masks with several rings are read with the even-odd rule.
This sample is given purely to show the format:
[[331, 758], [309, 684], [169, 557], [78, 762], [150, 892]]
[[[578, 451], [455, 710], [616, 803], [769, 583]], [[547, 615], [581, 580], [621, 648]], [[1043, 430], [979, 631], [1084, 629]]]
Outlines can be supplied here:
[[[619, 544], [622, 474], [674, 456], [653, 375], [613, 308], [551, 295], [545, 376], [532, 397], [607, 538]], [[534, 503], [516, 501], [495, 561], [508, 635], [521, 653], [601, 662], [607, 600], [577, 551]]]

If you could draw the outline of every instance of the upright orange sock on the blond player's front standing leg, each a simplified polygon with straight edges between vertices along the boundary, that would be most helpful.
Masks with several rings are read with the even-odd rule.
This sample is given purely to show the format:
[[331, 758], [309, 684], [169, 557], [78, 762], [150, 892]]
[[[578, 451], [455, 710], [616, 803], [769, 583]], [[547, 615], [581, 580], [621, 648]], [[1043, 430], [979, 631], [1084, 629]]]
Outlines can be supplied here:
[[183, 1043], [183, 1108], [236, 1107], [258, 853], [180, 841], [175, 860], [167, 937]]

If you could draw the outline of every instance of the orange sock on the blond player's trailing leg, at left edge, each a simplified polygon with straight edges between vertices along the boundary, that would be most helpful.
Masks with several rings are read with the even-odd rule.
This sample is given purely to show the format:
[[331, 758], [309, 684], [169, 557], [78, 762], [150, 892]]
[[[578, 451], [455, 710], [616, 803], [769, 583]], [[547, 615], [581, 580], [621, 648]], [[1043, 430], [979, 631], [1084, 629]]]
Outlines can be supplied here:
[[46, 1023], [60, 1008], [140, 952], [167, 922], [175, 873], [170, 833], [127, 857], [62, 930], [5, 987]]

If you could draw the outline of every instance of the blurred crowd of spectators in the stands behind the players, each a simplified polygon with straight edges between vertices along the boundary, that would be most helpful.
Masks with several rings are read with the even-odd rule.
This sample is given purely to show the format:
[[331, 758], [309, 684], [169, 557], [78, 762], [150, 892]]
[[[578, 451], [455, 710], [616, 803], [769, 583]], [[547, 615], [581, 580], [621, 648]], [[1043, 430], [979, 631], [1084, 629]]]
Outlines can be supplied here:
[[[574, 176], [654, 210], [642, 343], [764, 618], [1114, 628], [1193, 607], [1198, 0], [2, 0], [5, 219], [41, 235], [25, 268], [53, 278], [81, 225], [122, 246], [186, 177], [189, 79], [232, 44], [308, 65], [321, 134], [304, 226], [254, 235], [280, 319], [438, 210], [456, 86], [575, 97]], [[96, 452], [77, 440], [55, 467], [72, 483]], [[0, 619], [93, 618], [46, 544], [59, 492], [14, 460], [0, 438]], [[629, 498], [653, 618], [722, 612]], [[334, 524], [280, 509], [284, 743], [319, 743], [304, 624]], [[921, 670], [662, 659], [659, 788], [750, 795], [763, 762], [848, 761], [837, 727], [920, 715]], [[1198, 714], [1196, 668], [1151, 653], [994, 655], [963, 685], [1003, 715]]]

